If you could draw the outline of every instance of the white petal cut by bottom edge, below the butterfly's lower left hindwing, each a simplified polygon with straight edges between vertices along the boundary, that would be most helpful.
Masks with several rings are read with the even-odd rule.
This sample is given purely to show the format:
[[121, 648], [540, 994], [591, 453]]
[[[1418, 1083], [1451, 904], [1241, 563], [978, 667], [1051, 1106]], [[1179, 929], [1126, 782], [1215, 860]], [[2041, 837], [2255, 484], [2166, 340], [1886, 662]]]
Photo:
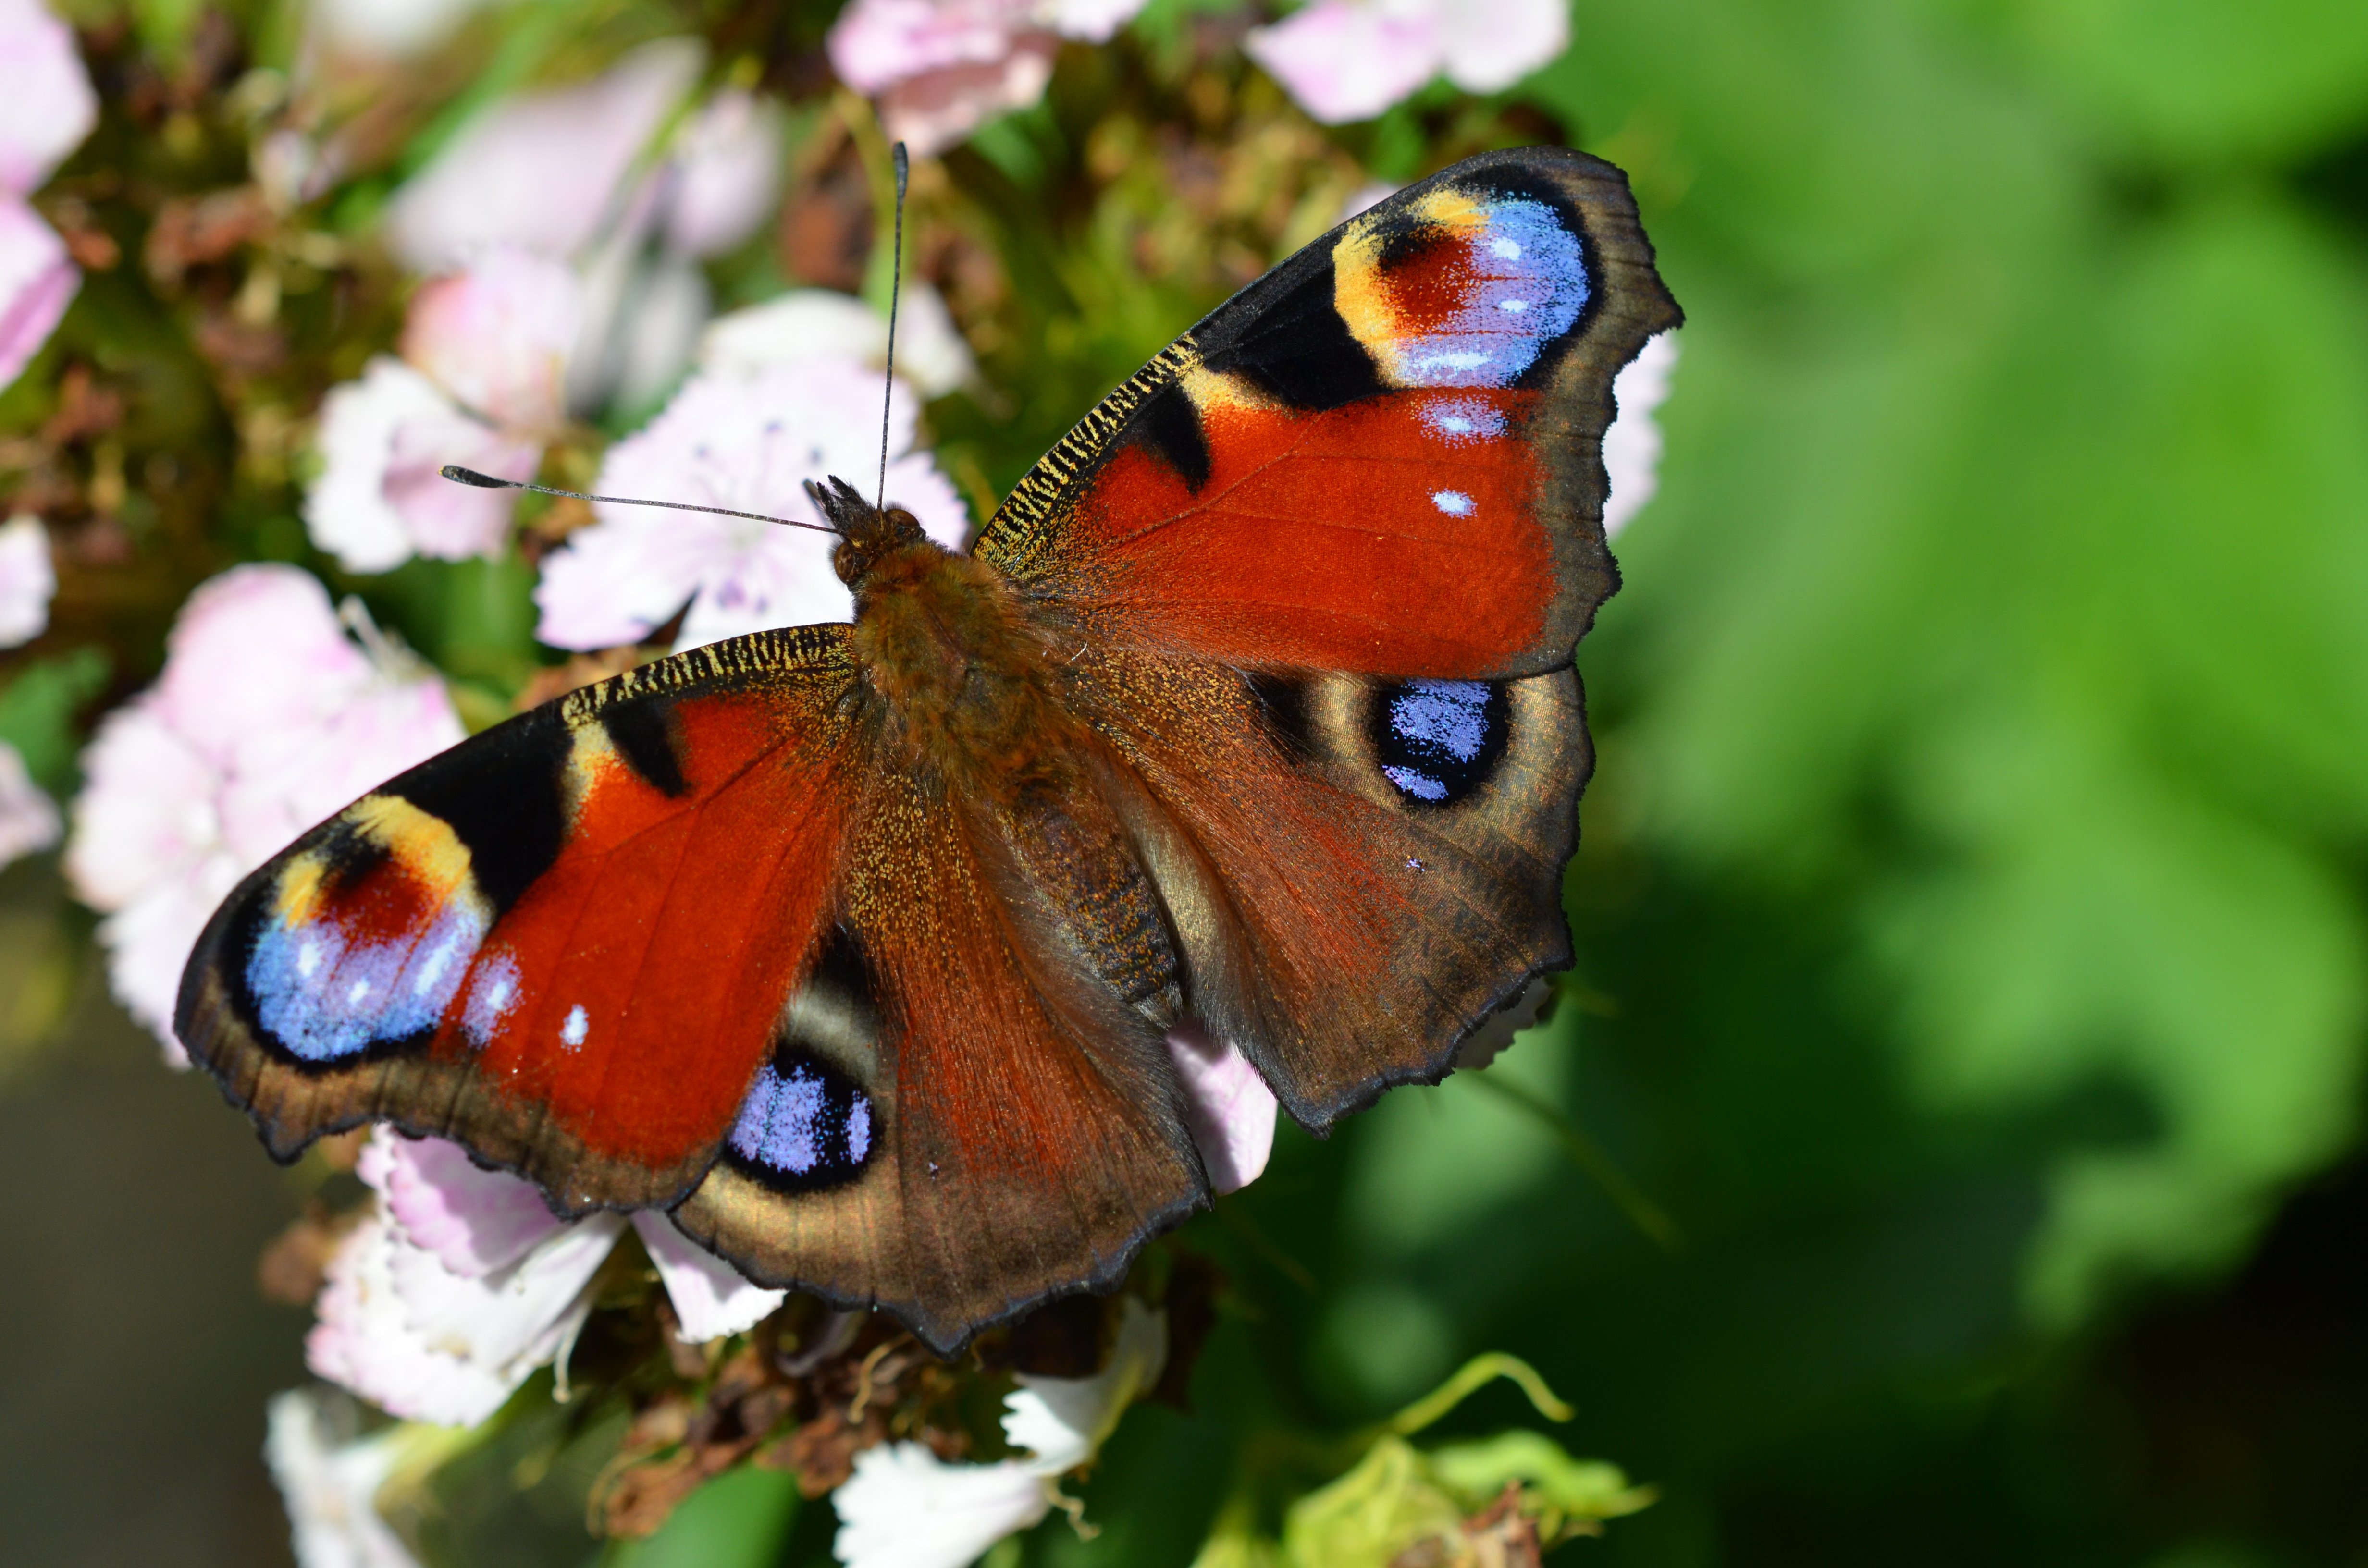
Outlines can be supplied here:
[[969, 1568], [1044, 1518], [1051, 1483], [1009, 1459], [947, 1464], [919, 1442], [886, 1442], [855, 1457], [831, 1506], [845, 1568]]

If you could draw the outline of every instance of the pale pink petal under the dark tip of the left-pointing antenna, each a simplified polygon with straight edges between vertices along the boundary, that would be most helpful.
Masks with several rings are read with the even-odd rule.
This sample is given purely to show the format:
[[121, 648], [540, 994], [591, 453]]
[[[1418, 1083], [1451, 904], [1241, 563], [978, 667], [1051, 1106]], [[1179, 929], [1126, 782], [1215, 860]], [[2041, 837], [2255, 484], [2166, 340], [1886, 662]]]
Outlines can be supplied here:
[[322, 469], [305, 493], [313, 542], [346, 571], [391, 571], [414, 554], [493, 554], [514, 495], [440, 476], [457, 462], [497, 478], [533, 478], [542, 448], [462, 412], [431, 379], [379, 358], [320, 407]]

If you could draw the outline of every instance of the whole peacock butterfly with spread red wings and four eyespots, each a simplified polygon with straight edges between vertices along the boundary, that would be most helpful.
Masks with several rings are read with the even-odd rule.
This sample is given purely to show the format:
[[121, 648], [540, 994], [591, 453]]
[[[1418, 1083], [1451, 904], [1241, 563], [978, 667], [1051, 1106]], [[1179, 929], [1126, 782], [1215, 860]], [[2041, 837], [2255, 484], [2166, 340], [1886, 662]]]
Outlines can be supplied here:
[[852, 625], [303, 834], [175, 1028], [279, 1158], [448, 1137], [940, 1352], [1108, 1289], [1208, 1203], [1182, 1016], [1324, 1132], [1570, 962], [1601, 441], [1677, 322], [1617, 168], [1456, 163], [1160, 351], [971, 554], [817, 490]]

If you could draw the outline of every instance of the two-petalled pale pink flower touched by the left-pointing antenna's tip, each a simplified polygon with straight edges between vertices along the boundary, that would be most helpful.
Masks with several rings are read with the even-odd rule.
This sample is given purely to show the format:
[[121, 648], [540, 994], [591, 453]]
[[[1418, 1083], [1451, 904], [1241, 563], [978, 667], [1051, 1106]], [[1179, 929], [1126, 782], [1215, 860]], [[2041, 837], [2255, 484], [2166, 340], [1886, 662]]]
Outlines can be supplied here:
[[322, 400], [322, 471], [303, 505], [313, 542], [346, 571], [497, 554], [516, 497], [455, 486], [443, 464], [535, 476], [566, 417], [578, 315], [575, 275], [516, 249], [419, 289], [405, 358], [372, 360]]

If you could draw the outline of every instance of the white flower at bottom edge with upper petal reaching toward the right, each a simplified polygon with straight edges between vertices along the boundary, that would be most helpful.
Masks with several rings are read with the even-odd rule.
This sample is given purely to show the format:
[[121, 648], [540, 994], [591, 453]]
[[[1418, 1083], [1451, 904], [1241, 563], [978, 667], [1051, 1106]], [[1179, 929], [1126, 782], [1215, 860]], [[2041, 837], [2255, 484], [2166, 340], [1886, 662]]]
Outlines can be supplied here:
[[1127, 1405], [1167, 1364], [1167, 1315], [1132, 1296], [1120, 1305], [1111, 1364], [1089, 1379], [1018, 1376], [1004, 1400], [1004, 1438], [1028, 1459], [947, 1464], [919, 1442], [890, 1442], [855, 1459], [831, 1495], [845, 1568], [966, 1568], [1002, 1537], [1051, 1509], [1058, 1476], [1077, 1469], [1115, 1431]]

